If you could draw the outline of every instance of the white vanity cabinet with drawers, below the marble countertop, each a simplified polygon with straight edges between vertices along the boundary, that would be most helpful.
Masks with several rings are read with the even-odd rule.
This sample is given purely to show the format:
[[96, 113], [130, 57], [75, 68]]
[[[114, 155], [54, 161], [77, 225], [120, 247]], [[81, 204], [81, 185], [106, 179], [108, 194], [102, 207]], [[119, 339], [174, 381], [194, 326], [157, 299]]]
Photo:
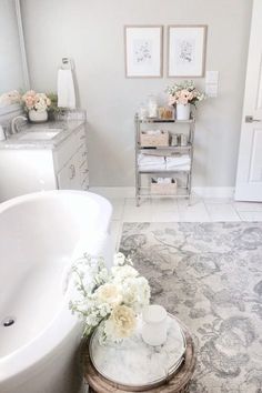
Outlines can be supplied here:
[[8, 144], [0, 150], [0, 202], [44, 190], [88, 190], [89, 167], [84, 123], [60, 143]]

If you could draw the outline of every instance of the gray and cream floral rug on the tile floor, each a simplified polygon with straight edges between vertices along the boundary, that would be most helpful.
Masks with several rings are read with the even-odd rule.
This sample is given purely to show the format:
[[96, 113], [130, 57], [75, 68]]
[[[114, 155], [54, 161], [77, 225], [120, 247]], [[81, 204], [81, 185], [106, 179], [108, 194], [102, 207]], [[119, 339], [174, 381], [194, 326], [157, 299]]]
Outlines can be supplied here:
[[262, 223], [124, 223], [120, 251], [193, 334], [190, 392], [262, 392]]

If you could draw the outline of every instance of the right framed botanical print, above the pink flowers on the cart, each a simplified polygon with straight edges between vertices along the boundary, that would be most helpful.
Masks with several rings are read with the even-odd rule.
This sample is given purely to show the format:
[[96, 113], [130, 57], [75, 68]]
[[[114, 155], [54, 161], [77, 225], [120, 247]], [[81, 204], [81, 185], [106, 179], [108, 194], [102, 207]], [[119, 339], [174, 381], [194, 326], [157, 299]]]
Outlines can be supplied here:
[[168, 27], [168, 77], [204, 77], [206, 32], [206, 24]]

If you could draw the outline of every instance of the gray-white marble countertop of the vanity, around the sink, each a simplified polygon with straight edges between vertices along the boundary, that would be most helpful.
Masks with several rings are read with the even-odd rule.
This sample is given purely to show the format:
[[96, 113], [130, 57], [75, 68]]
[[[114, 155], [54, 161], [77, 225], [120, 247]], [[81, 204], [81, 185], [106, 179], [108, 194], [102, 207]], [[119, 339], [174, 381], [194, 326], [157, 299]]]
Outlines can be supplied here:
[[[66, 141], [73, 131], [85, 123], [84, 120], [67, 120], [67, 121], [48, 121], [46, 123], [28, 123], [22, 127], [22, 130], [4, 141], [0, 142], [0, 150], [6, 149], [56, 149], [59, 144]], [[22, 140], [20, 139], [27, 132], [34, 131], [52, 131], [53, 129], [60, 129], [54, 138], [49, 140]]]

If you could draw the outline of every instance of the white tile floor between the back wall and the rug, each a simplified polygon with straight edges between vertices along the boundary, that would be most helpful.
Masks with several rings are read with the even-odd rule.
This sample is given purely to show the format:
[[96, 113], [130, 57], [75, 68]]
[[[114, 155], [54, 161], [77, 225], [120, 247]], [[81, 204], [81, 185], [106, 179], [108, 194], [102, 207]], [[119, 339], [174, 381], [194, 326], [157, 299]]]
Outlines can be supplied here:
[[143, 199], [137, 208], [133, 198], [110, 199], [113, 205], [111, 233], [119, 248], [123, 222], [214, 222], [262, 221], [262, 203], [234, 202], [230, 199], [194, 198], [187, 200]]

